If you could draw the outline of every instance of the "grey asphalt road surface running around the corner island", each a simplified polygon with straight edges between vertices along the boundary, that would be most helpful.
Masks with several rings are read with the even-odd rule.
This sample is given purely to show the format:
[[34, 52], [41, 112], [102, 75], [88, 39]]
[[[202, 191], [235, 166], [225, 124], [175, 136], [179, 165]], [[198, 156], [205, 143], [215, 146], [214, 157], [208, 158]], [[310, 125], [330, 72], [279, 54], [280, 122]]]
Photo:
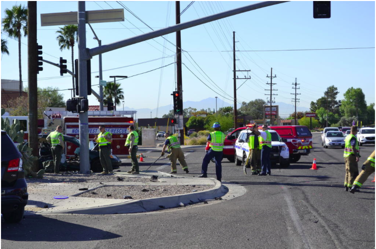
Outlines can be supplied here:
[[[26, 216], [19, 224], [1, 223], [1, 248], [375, 248], [374, 174], [360, 192], [345, 192], [343, 149], [323, 149], [320, 134], [313, 138], [313, 153], [288, 168], [272, 167], [271, 176], [244, 175], [242, 166], [224, 159], [223, 184], [247, 189], [232, 200], [140, 214]], [[361, 147], [359, 168], [374, 149]], [[160, 150], [143, 151], [140, 170]], [[204, 146], [183, 151], [188, 175], [198, 176]], [[310, 170], [314, 158], [318, 170]], [[169, 172], [168, 163], [151, 168]], [[129, 165], [125, 160], [120, 169]], [[187, 175], [179, 165], [178, 173]], [[215, 177], [213, 163], [208, 174]]]

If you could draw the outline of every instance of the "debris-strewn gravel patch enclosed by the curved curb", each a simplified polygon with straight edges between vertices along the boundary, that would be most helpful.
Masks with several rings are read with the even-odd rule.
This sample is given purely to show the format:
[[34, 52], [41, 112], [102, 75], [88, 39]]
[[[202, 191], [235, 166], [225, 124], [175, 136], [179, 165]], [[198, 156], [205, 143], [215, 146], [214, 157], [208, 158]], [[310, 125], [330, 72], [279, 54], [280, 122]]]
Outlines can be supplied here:
[[213, 188], [213, 185], [138, 185], [103, 186], [78, 195], [78, 197], [107, 199], [146, 199], [199, 192]]

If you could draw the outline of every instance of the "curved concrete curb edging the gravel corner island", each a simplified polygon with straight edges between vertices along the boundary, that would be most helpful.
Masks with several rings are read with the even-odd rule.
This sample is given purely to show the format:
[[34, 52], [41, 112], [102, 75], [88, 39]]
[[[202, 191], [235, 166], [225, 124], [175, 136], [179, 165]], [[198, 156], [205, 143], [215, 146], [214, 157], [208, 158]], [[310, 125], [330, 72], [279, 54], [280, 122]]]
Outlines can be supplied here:
[[[142, 200], [131, 200], [122, 203], [102, 205], [99, 207], [67, 209], [56, 211], [37, 212], [41, 215], [56, 215], [56, 214], [86, 214], [86, 215], [104, 215], [104, 214], [128, 214], [150, 212], [156, 210], [163, 210], [167, 208], [174, 208], [180, 206], [180, 203], [189, 204], [192, 202], [200, 202], [203, 200], [212, 200], [216, 197], [221, 197], [228, 192], [228, 188], [223, 186], [220, 181], [209, 178], [215, 186], [212, 189], [194, 192], [183, 195], [173, 195], [164, 197], [154, 197]], [[77, 197], [80, 198], [80, 197]]]

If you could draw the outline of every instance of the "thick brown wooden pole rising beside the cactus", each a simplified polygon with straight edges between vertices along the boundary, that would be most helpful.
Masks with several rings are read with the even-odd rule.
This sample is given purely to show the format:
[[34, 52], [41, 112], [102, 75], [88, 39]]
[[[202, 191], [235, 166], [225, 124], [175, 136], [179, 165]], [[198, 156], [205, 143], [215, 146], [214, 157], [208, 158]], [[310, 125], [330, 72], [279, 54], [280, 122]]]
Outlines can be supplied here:
[[[36, 1], [27, 2], [27, 78], [28, 78], [28, 102], [29, 102], [29, 147], [32, 155], [38, 157], [38, 85], [37, 85], [37, 43], [36, 43]], [[39, 170], [38, 161], [32, 167], [34, 172]]]

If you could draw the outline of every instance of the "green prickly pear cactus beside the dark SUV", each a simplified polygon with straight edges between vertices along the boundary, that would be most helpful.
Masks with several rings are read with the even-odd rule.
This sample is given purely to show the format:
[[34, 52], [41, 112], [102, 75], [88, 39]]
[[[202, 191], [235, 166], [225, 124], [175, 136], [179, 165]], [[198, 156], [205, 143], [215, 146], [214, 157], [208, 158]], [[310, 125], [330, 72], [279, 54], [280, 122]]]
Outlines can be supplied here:
[[[1, 115], [5, 113], [5, 110], [1, 108]], [[32, 149], [29, 148], [23, 142], [24, 132], [19, 130], [20, 123], [19, 120], [15, 119], [12, 124], [10, 124], [9, 119], [3, 119], [1, 117], [1, 130], [5, 131], [11, 140], [18, 144], [17, 149], [22, 154], [22, 166], [26, 172], [26, 176], [32, 176], [36, 178], [42, 178], [44, 170], [39, 170], [38, 173], [32, 172], [33, 163], [38, 160], [38, 157], [35, 157], [31, 154]]]

